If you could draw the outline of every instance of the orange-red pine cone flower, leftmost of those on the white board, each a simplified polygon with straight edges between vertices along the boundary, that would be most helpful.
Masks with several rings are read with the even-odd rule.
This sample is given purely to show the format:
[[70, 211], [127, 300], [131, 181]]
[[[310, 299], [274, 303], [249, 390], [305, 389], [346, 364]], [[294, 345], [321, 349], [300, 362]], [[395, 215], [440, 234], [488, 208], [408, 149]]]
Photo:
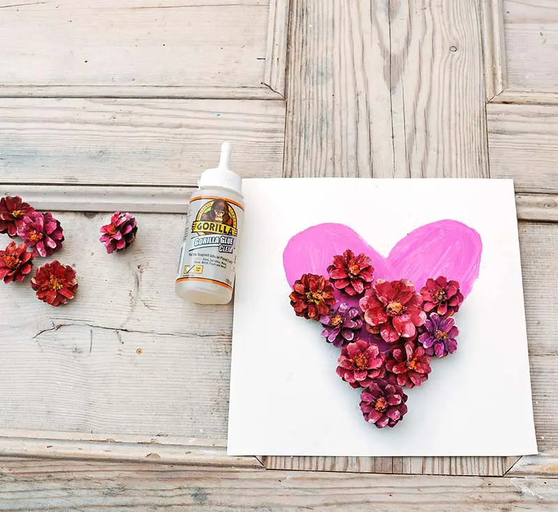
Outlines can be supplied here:
[[335, 304], [333, 286], [329, 280], [313, 273], [305, 273], [295, 281], [289, 298], [297, 317], [312, 320], [327, 315]]

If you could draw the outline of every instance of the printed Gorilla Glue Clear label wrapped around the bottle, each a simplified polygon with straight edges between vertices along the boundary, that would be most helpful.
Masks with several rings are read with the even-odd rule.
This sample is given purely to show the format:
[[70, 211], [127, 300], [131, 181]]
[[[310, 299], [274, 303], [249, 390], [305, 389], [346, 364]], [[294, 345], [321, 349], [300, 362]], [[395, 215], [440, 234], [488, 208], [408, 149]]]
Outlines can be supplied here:
[[209, 195], [190, 199], [176, 282], [205, 281], [232, 289], [244, 209]]

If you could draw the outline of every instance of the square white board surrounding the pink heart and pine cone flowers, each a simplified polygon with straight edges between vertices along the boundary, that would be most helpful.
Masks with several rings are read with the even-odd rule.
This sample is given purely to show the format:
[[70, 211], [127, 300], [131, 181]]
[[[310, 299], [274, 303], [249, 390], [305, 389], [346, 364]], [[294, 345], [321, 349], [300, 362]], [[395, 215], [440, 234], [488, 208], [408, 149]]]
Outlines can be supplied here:
[[[229, 455], [536, 453], [513, 181], [246, 179], [243, 193]], [[342, 223], [386, 256], [442, 219], [483, 243], [478, 279], [455, 315], [458, 351], [405, 389], [409, 412], [395, 428], [377, 429], [363, 419], [360, 391], [335, 373], [340, 349], [319, 323], [294, 315], [283, 251], [303, 229]]]

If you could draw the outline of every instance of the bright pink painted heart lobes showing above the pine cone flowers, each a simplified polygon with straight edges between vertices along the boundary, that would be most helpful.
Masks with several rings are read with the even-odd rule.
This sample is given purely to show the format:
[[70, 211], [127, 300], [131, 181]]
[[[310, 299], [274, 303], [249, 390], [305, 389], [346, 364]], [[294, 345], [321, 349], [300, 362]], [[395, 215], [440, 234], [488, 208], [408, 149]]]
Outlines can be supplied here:
[[319, 224], [296, 234], [287, 243], [283, 265], [289, 285], [303, 273], [327, 276], [333, 256], [347, 249], [372, 259], [375, 279], [405, 278], [420, 290], [428, 278], [446, 276], [460, 283], [465, 298], [478, 277], [483, 244], [481, 236], [467, 225], [456, 220], [438, 220], [409, 233], [384, 257], [350, 227]]

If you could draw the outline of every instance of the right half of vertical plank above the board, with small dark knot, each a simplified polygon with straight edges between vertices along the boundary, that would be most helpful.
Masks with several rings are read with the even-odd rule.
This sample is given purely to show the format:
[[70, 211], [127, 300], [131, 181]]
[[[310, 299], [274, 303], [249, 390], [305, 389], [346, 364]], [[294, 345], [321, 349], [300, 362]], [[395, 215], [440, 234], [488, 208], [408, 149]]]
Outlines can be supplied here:
[[480, 3], [392, 1], [389, 33], [395, 176], [488, 177]]

